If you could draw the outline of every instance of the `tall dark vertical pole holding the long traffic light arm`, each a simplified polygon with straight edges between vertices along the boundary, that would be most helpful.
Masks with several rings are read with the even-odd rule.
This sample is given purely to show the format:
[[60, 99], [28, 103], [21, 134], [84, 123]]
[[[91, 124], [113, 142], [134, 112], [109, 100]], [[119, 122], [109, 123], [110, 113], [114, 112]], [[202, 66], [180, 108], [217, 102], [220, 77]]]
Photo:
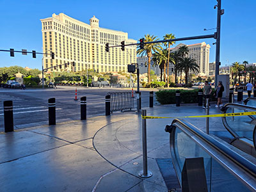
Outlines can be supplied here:
[[220, 72], [220, 19], [221, 19], [221, 0], [218, 0], [217, 10], [217, 39], [216, 39], [216, 57], [215, 57], [215, 88], [218, 85], [218, 75]]

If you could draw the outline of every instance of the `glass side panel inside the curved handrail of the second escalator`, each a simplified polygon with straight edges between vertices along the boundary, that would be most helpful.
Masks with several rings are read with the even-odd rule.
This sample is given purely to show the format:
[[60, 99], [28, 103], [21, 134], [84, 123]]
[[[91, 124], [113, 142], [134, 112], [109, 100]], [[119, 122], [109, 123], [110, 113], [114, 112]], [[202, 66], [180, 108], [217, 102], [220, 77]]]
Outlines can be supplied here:
[[[243, 109], [227, 108], [226, 113], [241, 113]], [[240, 137], [246, 137], [252, 140], [252, 132], [255, 127], [255, 122], [250, 116], [228, 116], [226, 117], [227, 124]]]

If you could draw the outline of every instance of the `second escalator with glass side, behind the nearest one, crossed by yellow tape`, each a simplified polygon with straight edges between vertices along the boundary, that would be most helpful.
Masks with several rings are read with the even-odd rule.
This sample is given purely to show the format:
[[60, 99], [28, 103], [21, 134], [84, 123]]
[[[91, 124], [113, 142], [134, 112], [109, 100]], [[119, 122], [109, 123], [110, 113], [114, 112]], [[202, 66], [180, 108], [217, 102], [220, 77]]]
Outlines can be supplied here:
[[[225, 104], [222, 110], [223, 113], [250, 112], [256, 111], [256, 105], [253, 107], [244, 104], [228, 103]], [[231, 134], [230, 140], [223, 137], [222, 139], [240, 150], [243, 150], [247, 154], [256, 157], [255, 142], [253, 143], [253, 137], [255, 137], [253, 135], [256, 134], [256, 115], [223, 116], [222, 122], [227, 131]], [[219, 137], [221, 138], [221, 136]]]

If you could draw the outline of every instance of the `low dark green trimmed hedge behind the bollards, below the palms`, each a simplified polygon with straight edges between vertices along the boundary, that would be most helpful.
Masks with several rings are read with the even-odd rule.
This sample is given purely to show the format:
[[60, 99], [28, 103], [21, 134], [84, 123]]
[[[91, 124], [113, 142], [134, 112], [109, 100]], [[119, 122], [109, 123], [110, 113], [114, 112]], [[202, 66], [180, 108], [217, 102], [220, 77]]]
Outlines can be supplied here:
[[[156, 99], [161, 104], [175, 104], [175, 94], [177, 90], [160, 90], [156, 92]], [[179, 90], [180, 92], [180, 102], [181, 103], [197, 103], [198, 102], [198, 91], [195, 90]], [[212, 89], [210, 101], [216, 100], [213, 97], [214, 89]]]

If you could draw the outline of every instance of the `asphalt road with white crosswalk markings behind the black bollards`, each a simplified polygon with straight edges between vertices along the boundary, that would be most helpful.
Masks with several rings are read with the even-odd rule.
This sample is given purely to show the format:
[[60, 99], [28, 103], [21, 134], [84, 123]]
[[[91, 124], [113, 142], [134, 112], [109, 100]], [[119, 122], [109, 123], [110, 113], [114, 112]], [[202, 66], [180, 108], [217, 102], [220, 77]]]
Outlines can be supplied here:
[[[77, 88], [77, 101], [75, 90]], [[127, 88], [85, 88], [59, 86], [57, 89], [0, 89], [0, 131], [4, 131], [3, 101], [13, 100], [14, 129], [48, 124], [48, 99], [56, 98], [56, 122], [80, 119], [80, 97], [87, 97], [87, 117], [105, 115], [105, 96], [108, 92], [127, 92]], [[142, 108], [149, 105], [149, 92], [141, 90]], [[134, 91], [135, 93], [135, 91]], [[154, 97], [154, 104], [157, 104]], [[136, 95], [134, 94], [134, 111]], [[115, 112], [114, 112], [115, 113]], [[135, 113], [135, 112], [134, 112]]]

